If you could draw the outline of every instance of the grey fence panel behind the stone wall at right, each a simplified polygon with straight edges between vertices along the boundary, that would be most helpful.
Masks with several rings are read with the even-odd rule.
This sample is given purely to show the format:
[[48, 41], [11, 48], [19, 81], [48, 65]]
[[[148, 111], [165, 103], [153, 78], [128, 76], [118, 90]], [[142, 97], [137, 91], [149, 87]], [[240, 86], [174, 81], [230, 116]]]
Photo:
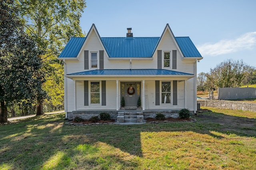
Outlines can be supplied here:
[[250, 99], [256, 98], [256, 88], [219, 88], [218, 100]]

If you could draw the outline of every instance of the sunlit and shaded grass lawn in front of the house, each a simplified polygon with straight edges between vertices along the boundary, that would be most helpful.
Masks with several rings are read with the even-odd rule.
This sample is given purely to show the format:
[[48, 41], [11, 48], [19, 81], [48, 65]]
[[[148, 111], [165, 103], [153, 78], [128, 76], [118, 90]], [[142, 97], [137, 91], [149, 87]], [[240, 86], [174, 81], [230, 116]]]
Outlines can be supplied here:
[[256, 169], [256, 113], [215, 111], [196, 123], [70, 126], [57, 113], [0, 125], [0, 169]]

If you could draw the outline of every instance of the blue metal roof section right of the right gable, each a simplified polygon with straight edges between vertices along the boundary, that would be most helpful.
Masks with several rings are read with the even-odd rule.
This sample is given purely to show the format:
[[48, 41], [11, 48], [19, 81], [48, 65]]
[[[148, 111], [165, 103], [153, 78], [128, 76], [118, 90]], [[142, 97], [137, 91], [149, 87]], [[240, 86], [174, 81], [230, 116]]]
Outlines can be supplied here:
[[184, 57], [202, 57], [189, 37], [175, 37]]

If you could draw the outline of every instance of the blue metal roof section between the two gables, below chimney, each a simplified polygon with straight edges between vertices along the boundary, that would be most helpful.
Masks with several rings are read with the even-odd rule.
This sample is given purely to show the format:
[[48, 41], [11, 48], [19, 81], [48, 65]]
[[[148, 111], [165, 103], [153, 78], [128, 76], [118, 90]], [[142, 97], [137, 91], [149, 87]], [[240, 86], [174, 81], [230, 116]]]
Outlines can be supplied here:
[[159, 37], [102, 37], [109, 57], [152, 57]]

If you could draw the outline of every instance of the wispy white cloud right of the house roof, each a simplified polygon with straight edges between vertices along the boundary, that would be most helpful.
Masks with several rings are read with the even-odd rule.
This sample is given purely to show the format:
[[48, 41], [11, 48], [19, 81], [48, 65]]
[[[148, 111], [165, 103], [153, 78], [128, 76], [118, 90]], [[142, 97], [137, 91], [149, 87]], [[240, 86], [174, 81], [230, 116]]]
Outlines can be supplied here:
[[205, 43], [198, 46], [198, 51], [204, 55], [222, 55], [234, 53], [256, 46], [256, 32], [249, 32], [236, 39], [224, 39], [215, 44]]

